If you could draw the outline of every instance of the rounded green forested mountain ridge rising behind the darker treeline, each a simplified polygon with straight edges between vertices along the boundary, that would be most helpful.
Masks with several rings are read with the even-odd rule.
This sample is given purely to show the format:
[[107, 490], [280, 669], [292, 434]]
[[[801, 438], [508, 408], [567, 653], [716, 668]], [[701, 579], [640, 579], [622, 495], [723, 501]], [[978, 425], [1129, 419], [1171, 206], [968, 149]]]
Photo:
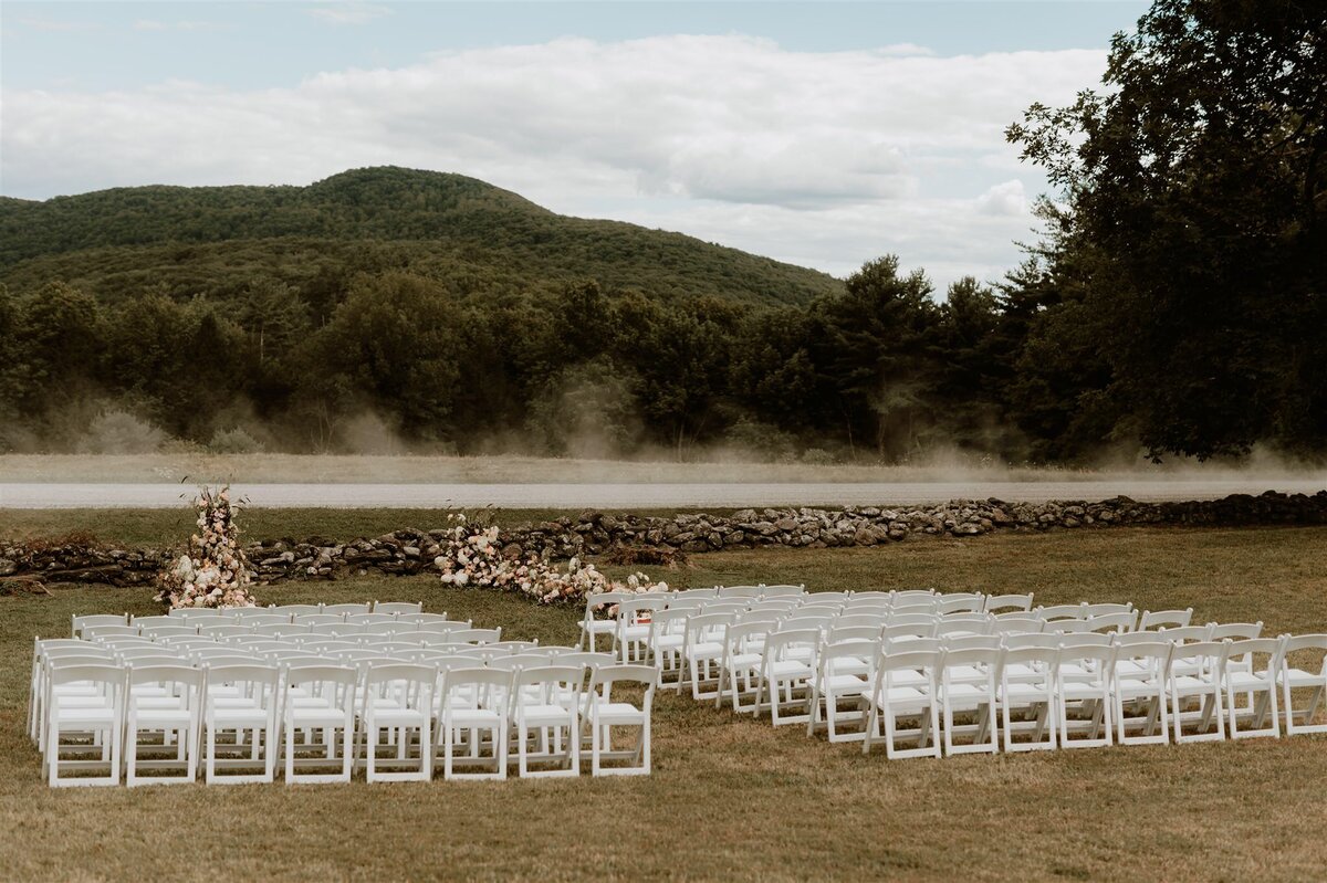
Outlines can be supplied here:
[[145, 285], [227, 296], [255, 268], [308, 285], [409, 269], [462, 293], [596, 278], [671, 297], [807, 304], [841, 281], [691, 236], [557, 215], [464, 175], [360, 168], [307, 187], [122, 187], [45, 202], [0, 198], [0, 281], [74, 284], [104, 300]]

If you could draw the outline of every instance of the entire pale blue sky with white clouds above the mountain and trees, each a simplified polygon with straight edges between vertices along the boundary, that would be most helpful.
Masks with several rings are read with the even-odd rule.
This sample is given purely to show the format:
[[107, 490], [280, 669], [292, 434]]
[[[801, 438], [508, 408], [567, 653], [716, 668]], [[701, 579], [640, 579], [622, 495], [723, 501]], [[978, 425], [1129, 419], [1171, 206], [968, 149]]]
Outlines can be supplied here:
[[845, 276], [998, 278], [1046, 183], [1005, 143], [1136, 1], [0, 5], [0, 194], [454, 171]]

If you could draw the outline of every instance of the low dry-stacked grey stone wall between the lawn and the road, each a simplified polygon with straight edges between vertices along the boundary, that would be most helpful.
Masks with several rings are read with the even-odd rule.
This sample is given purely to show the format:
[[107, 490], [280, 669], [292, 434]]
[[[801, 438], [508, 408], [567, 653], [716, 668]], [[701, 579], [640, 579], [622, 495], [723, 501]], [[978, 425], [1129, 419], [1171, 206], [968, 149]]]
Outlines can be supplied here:
[[[873, 546], [913, 537], [971, 537], [1003, 530], [1091, 530], [1115, 525], [1314, 525], [1327, 524], [1327, 491], [1312, 496], [1269, 491], [1190, 502], [1003, 502], [954, 500], [922, 506], [845, 509], [743, 509], [731, 516], [683, 513], [671, 518], [584, 512], [504, 529], [503, 553], [568, 558], [614, 546], [652, 546], [703, 553], [758, 546]], [[259, 582], [334, 579], [353, 574], [414, 574], [435, 570], [445, 530], [407, 528], [373, 538], [332, 542], [268, 540], [245, 548]], [[175, 554], [179, 554], [178, 552]], [[0, 545], [0, 579], [151, 583], [171, 558], [165, 549], [115, 549], [89, 542]]]

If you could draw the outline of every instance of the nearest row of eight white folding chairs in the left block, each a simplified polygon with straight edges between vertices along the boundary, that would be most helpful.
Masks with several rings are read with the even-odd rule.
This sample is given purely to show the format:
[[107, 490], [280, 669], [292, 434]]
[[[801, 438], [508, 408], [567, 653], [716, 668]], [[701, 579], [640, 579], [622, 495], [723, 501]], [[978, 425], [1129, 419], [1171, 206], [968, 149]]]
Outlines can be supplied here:
[[[522, 668], [520, 664], [503, 664], [503, 666], [490, 666], [488, 668], [474, 668], [472, 660], [454, 659], [453, 667], [464, 666], [467, 662], [470, 668], [456, 668], [456, 671], [464, 671], [475, 674], [478, 672], [476, 680], [479, 681], [492, 681], [494, 685], [502, 683], [510, 683], [507, 693], [503, 696], [503, 701], [511, 703], [510, 713], [506, 719], [511, 721], [515, 727], [516, 750], [519, 756], [519, 769], [522, 774], [544, 774], [528, 770], [528, 761], [531, 758], [531, 740], [528, 731], [531, 728], [537, 731], [547, 731], [549, 727], [564, 724], [565, 729], [565, 749], [561, 754], [565, 756], [568, 766], [563, 770], [567, 774], [575, 774], [579, 772], [579, 749], [580, 742], [584, 738], [592, 752], [592, 772], [598, 774], [622, 774], [622, 773], [648, 773], [649, 772], [649, 717], [650, 717], [650, 703], [653, 699], [653, 671], [641, 670], [634, 667], [634, 671], [626, 671], [629, 667], [612, 667], [609, 666], [606, 674], [600, 674], [604, 668], [604, 663], [608, 662], [602, 658], [596, 660], [591, 667], [581, 666], [576, 659], [576, 654], [563, 656], [564, 662], [577, 663], [575, 666], [559, 666], [551, 667], [547, 658], [533, 656], [527, 660], [529, 663], [528, 668]], [[581, 655], [587, 656], [587, 655]], [[588, 655], [594, 656], [594, 655]], [[514, 660], [515, 658], [512, 658]], [[52, 785], [78, 785], [78, 784], [114, 784], [118, 781], [119, 776], [119, 757], [123, 750], [126, 754], [126, 768], [129, 774], [129, 782], [138, 784], [137, 770], [139, 768], [138, 762], [138, 733], [139, 729], [147, 729], [153, 732], [162, 732], [163, 738], [174, 733], [178, 740], [178, 754], [174, 761], [154, 761], [157, 765], [167, 764], [173, 766], [182, 766], [182, 772], [176, 777], [163, 778], [153, 777], [143, 781], [159, 782], [159, 781], [190, 781], [194, 778], [194, 772], [196, 769], [196, 752], [198, 752], [198, 738], [200, 727], [200, 708], [204, 704], [202, 696], [204, 692], [203, 683], [206, 675], [202, 672], [211, 671], [210, 668], [195, 668], [180, 663], [179, 660], [171, 659], [153, 659], [143, 660], [146, 664], [139, 667], [135, 674], [133, 664], [119, 668], [113, 664], [106, 663], [89, 663], [81, 660], [81, 664], [73, 667], [54, 667], [48, 675], [48, 695], [53, 699], [54, 712], [50, 716], [50, 738], [54, 740], [50, 744], [50, 750], [44, 752], [44, 756], [49, 753], [48, 776]], [[364, 741], [364, 748], [369, 753], [368, 769], [369, 778], [374, 781], [376, 778], [429, 778], [431, 777], [431, 761], [433, 761], [433, 742], [429, 738], [429, 729], [433, 719], [437, 716], [439, 724], [443, 727], [447, 735], [447, 744], [451, 744], [453, 729], [447, 729], [450, 719], [454, 712], [459, 711], [459, 716], [468, 719], [460, 721], [467, 723], [471, 729], [474, 729], [475, 716], [490, 713], [492, 709], [486, 709], [480, 707], [478, 692], [455, 693], [449, 696], [447, 701], [439, 704], [438, 708], [433, 707], [431, 695], [434, 685], [437, 684], [439, 668], [437, 666], [429, 664], [411, 664], [405, 662], [397, 662], [391, 659], [380, 659], [377, 666], [344, 666], [337, 664], [336, 660], [320, 660], [308, 659], [295, 662], [287, 666], [276, 667], [272, 664], [261, 664], [256, 660], [230, 660], [228, 664], [218, 667], [215, 671], [219, 672], [220, 677], [224, 680], [224, 672], [239, 671], [253, 672], [265, 671], [273, 672], [271, 675], [271, 688], [265, 692], [259, 692], [255, 695], [252, 691], [236, 692], [227, 687], [228, 692], [212, 700], [211, 697], [206, 703], [207, 716], [202, 721], [202, 727], [207, 731], [207, 777], [208, 781], [215, 781], [216, 777], [216, 725], [218, 723], [227, 725], [231, 731], [253, 731], [252, 738], [245, 746], [243, 738], [236, 738], [234, 745], [242, 750], [244, 754], [249, 754], [251, 761], [257, 761], [260, 752], [265, 752], [265, 760], [263, 762], [263, 769], [256, 774], [249, 770], [251, 774], [242, 777], [227, 777], [226, 781], [271, 781], [275, 766], [275, 746], [280, 742], [280, 737], [273, 729], [273, 720], [276, 717], [276, 696], [280, 692], [281, 696], [288, 699], [283, 703], [283, 720], [285, 721], [284, 729], [284, 749], [285, 749], [285, 773], [287, 781], [345, 781], [348, 778], [348, 772], [352, 764], [350, 746], [356, 744], [354, 731], [356, 720], [361, 721], [366, 732], [370, 733]], [[511, 660], [503, 660], [510, 663]], [[406, 670], [413, 670], [419, 689], [415, 695], [423, 695], [427, 701], [423, 705], [417, 705], [410, 708], [410, 703], [406, 701], [411, 692], [407, 689], [405, 692], [374, 692], [374, 687], [385, 684], [391, 680], [393, 674], [401, 674]], [[548, 684], [549, 674], [556, 674], [555, 679], [557, 683], [572, 688], [573, 691], [580, 691], [584, 681], [584, 671], [591, 671], [591, 687], [589, 693], [585, 695], [585, 709], [584, 719], [587, 721], [587, 732], [581, 732], [580, 721], [580, 703], [581, 693], [575, 692], [573, 700], [567, 708], [557, 708], [551, 704], [548, 695], [535, 695], [529, 693], [529, 688], [537, 684]], [[450, 670], [445, 670], [442, 674], [443, 684], [447, 683]], [[64, 675], [61, 672], [72, 672], [70, 675]], [[283, 674], [284, 672], [284, 674]], [[491, 674], [488, 674], [491, 672]], [[543, 674], [540, 674], [543, 672]], [[613, 683], [620, 683], [622, 680], [637, 680], [644, 681], [645, 674], [649, 675], [648, 692], [642, 707], [634, 707], [630, 703], [624, 703], [621, 700], [613, 700], [610, 696], [610, 685]], [[332, 675], [336, 676], [332, 676]], [[154, 681], [154, 676], [163, 677], [171, 681], [176, 688], [183, 687], [184, 691], [173, 689], [166, 693], [157, 692], [139, 696], [135, 693], [135, 687], [138, 684], [150, 684]], [[318, 680], [318, 685], [313, 689], [308, 689], [307, 684], [311, 680]], [[56, 688], [64, 685], [65, 683], [77, 684], [81, 688], [88, 688], [96, 692], [100, 687], [100, 695], [78, 695], [74, 697], [62, 697], [58, 693], [50, 692]], [[222, 684], [222, 680], [218, 681]], [[596, 687], [597, 684], [597, 687]], [[330, 687], [330, 692], [325, 689]], [[364, 701], [356, 711], [354, 707], [354, 691], [361, 689], [364, 695]], [[299, 692], [297, 692], [299, 691]], [[524, 691], [524, 692], [523, 692]], [[297, 693], [297, 695], [296, 695]], [[255, 708], [253, 700], [261, 700], [267, 696], [272, 708], [267, 713], [259, 713], [261, 709]], [[165, 700], [165, 701], [163, 701]], [[460, 703], [460, 708], [456, 708], [456, 701]], [[495, 760], [499, 762], [500, 769], [499, 776], [506, 774], [506, 736], [504, 728], [507, 720], [503, 720], [498, 728], [500, 732], [495, 735], [496, 741], [494, 742]], [[146, 727], [139, 728], [139, 723], [146, 724]], [[455, 721], [453, 721], [455, 723]], [[641, 729], [641, 737], [637, 746], [632, 750], [614, 750], [610, 741], [608, 740], [609, 727], [624, 727], [636, 725]], [[122, 748], [123, 735], [122, 729], [129, 729], [127, 746]], [[415, 757], [417, 772], [411, 773], [377, 773], [377, 754], [380, 750], [378, 732], [384, 728], [394, 731], [395, 745], [398, 746], [397, 760], [406, 760], [405, 749], [407, 742], [403, 741], [402, 731], [406, 728], [414, 728], [419, 732], [418, 746]], [[60, 735], [68, 729], [76, 729], [78, 735], [86, 732], [104, 733], [104, 746], [102, 757], [94, 764], [100, 764], [109, 768], [106, 776], [101, 778], [62, 778], [58, 776], [58, 769], [61, 766], [61, 741]], [[304, 733], [304, 740], [309, 741], [309, 733], [313, 731], [330, 731], [340, 728], [344, 737], [344, 748], [341, 750], [341, 772], [334, 774], [299, 774], [295, 772], [296, 766], [296, 753], [297, 745], [295, 744], [296, 731]], [[260, 729], [265, 731], [265, 735], [260, 735]], [[169, 742], [167, 742], [169, 744]], [[543, 742], [540, 742], [543, 745]], [[161, 746], [154, 746], [161, 748]], [[313, 760], [314, 764], [326, 765], [326, 758], [334, 758], [336, 752], [332, 740], [324, 733], [324, 742], [314, 745], [318, 757]], [[325, 756], [324, 756], [324, 752]], [[552, 757], [556, 752], [543, 754], [533, 754], [539, 757]], [[626, 760], [629, 765], [626, 768], [604, 768], [605, 761], [622, 761]], [[447, 776], [451, 777], [451, 753], [446, 757]], [[77, 762], [77, 761], [74, 761]], [[65, 768], [68, 769], [69, 762], [66, 761]], [[376, 774], [377, 773], [377, 774]], [[555, 770], [556, 773], [556, 770]]]

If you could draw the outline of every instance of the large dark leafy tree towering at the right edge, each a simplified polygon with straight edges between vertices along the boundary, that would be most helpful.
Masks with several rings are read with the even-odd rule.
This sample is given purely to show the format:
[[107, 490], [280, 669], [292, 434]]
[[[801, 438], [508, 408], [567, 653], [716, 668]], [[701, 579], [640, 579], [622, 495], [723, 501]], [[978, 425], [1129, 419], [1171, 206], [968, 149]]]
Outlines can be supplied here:
[[1007, 133], [1062, 190], [1034, 343], [1096, 341], [1108, 381], [1074, 395], [1153, 452], [1320, 449], [1327, 7], [1157, 0], [1104, 85]]

